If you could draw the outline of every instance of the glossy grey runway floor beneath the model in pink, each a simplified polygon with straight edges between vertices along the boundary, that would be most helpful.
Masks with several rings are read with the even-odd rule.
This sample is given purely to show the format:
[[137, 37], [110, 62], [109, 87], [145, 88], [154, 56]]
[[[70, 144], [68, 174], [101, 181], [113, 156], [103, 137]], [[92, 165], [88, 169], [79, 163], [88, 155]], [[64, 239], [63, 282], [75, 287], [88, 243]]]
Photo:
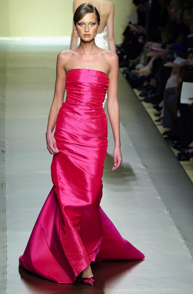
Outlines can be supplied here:
[[45, 132], [57, 53], [68, 49], [57, 39], [38, 42], [0, 41], [1, 293], [191, 293], [193, 184], [121, 73], [123, 162], [111, 171], [114, 141], [108, 119], [101, 207], [145, 260], [94, 263], [94, 288], [79, 281], [57, 284], [19, 267], [18, 258], [52, 187]]

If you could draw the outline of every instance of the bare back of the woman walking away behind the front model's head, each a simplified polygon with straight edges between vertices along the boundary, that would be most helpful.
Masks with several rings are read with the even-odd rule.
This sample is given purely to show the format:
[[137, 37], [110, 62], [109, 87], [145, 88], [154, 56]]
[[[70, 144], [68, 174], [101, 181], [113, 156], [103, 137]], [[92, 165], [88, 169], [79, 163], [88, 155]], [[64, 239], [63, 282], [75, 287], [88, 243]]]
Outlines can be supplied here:
[[[74, 9], [76, 10], [83, 3], [85, 3], [85, 0], [74, 0]], [[90, 3], [97, 8], [101, 17], [100, 28], [97, 32], [102, 33], [107, 25], [108, 16], [114, 9], [113, 3], [106, 0], [87, 0], [86, 3]]]

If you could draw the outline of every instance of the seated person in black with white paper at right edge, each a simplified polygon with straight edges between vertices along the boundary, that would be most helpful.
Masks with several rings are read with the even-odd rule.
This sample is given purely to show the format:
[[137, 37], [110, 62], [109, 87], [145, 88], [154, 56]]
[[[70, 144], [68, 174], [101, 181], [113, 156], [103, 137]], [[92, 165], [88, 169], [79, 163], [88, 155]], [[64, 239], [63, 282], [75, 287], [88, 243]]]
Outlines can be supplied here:
[[178, 87], [168, 88], [164, 92], [163, 126], [172, 130], [167, 138], [168, 143], [179, 151], [186, 151], [183, 159], [178, 156], [180, 160], [191, 157], [188, 154], [189, 144], [193, 141], [193, 98], [190, 98], [189, 104], [180, 103], [183, 82], [193, 83], [193, 65], [183, 65], [178, 74]]

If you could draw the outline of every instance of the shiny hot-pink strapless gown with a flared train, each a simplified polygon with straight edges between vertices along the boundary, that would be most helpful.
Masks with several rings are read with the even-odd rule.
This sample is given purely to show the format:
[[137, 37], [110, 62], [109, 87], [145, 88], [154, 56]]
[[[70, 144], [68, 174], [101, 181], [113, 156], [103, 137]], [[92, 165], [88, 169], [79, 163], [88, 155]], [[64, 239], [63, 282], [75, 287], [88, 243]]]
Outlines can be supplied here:
[[144, 258], [99, 206], [108, 146], [102, 105], [108, 86], [102, 71], [68, 71], [67, 97], [54, 134], [60, 150], [51, 164], [54, 186], [19, 258], [25, 269], [58, 283], [73, 283], [91, 261]]

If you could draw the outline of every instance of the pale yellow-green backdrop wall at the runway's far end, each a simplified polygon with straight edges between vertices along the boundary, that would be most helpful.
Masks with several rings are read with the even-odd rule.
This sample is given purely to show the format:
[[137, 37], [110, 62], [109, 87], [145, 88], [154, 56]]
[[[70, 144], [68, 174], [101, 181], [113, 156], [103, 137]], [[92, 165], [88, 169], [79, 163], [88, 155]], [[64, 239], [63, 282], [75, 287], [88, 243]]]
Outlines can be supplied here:
[[[85, 1], [86, 2], [86, 1]], [[116, 42], [133, 10], [132, 0], [112, 0], [115, 5]], [[73, 0], [1, 0], [0, 37], [70, 36]]]

